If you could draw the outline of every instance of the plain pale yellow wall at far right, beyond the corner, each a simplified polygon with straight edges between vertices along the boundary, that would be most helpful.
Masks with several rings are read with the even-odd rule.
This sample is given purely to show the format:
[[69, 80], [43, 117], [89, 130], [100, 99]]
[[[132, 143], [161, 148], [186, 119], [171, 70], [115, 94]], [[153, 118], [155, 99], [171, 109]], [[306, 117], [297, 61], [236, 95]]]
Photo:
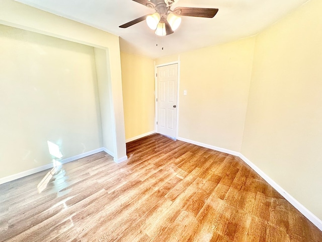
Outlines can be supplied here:
[[256, 38], [241, 153], [322, 219], [322, 2]]

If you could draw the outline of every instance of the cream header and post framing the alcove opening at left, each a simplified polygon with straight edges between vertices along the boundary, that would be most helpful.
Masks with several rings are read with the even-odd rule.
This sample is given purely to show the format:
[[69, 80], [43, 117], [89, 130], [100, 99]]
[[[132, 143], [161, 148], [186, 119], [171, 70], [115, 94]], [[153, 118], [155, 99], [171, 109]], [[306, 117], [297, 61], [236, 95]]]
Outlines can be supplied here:
[[[114, 158], [116, 161], [124, 160], [126, 158], [126, 146], [120, 47], [118, 36], [81, 23], [77, 23], [75, 21], [49, 14], [47, 12], [15, 2], [14, 0], [2, 0], [0, 8], [0, 24], [18, 27], [24, 30], [41, 33], [76, 43], [86, 44], [104, 49], [106, 51], [106, 68], [109, 75], [109, 86], [111, 87], [110, 94], [113, 104], [111, 116], [113, 117], [113, 123], [115, 126], [113, 130], [114, 150], [112, 150], [112, 152], [115, 155]], [[0, 35], [3, 35], [3, 32], [0, 32]], [[77, 62], [77, 58], [75, 59]], [[105, 95], [109, 95], [109, 93], [106, 93]], [[86, 132], [87, 131], [85, 131], [85, 133]], [[11, 166], [15, 161], [8, 163], [7, 160], [4, 162], [7, 162], [7, 166]], [[35, 166], [32, 168], [39, 166], [41, 166], [41, 164], [35, 163]], [[29, 168], [29, 166], [27, 168]], [[25, 167], [24, 169], [27, 168]], [[11, 172], [6, 172], [6, 174], [13, 172], [16, 173], [18, 171], [14, 170]]]

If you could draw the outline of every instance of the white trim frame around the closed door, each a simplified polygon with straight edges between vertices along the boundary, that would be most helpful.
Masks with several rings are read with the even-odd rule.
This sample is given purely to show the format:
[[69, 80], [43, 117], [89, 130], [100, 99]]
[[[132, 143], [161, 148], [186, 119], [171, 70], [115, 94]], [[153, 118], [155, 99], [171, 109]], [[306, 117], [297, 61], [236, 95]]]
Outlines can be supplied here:
[[176, 108], [176, 116], [177, 116], [177, 124], [176, 124], [176, 137], [174, 137], [175, 139], [178, 138], [178, 131], [179, 131], [179, 108], [180, 108], [180, 105], [179, 105], [179, 89], [180, 89], [180, 61], [175, 61], [175, 62], [169, 62], [169, 63], [164, 63], [164, 64], [159, 64], [159, 65], [155, 65], [154, 66], [154, 85], [155, 85], [155, 88], [154, 88], [154, 105], [155, 105], [155, 108], [154, 108], [154, 113], [155, 113], [155, 117], [154, 117], [154, 130], [156, 133], [158, 133], [158, 130], [157, 130], [157, 125], [156, 125], [156, 122], [157, 122], [157, 77], [156, 77], [156, 74], [157, 74], [157, 68], [158, 67], [165, 67], [165, 66], [170, 66], [170, 65], [173, 65], [173, 64], [178, 64], [178, 82], [177, 82], [177, 108]]

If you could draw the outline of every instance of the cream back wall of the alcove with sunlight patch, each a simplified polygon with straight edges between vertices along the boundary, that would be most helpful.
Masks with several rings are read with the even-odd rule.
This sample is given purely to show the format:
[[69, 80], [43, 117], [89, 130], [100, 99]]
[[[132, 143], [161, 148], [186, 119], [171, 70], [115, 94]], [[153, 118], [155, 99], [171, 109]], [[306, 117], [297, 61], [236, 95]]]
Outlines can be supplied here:
[[103, 146], [94, 48], [0, 25], [0, 177]]

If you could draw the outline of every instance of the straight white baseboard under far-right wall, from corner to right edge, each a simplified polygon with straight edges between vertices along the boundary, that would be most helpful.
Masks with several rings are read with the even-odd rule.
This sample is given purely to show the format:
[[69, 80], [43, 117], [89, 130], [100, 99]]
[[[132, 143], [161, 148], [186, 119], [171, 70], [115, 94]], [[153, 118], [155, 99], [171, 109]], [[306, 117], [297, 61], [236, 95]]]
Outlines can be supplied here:
[[295, 198], [288, 194], [281, 186], [279, 186], [272, 178], [265, 174], [253, 162], [247, 159], [243, 154], [238, 155], [246, 164], [248, 164], [257, 174], [267, 181], [279, 194], [281, 194], [290, 204], [292, 204], [300, 213], [302, 213], [308, 220], [310, 220], [319, 230], [322, 231], [322, 220], [316, 217], [312, 212], [305, 208]]

